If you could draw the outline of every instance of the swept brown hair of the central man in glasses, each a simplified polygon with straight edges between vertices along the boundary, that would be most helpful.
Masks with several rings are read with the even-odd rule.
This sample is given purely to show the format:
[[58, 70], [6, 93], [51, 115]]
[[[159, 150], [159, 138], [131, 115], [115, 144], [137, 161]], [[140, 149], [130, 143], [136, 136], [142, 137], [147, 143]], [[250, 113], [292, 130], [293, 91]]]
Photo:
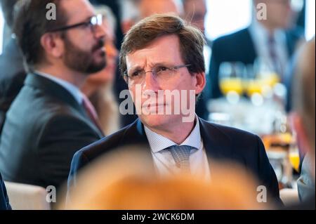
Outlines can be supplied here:
[[147, 17], [124, 37], [119, 55], [121, 74], [126, 72], [126, 55], [143, 49], [158, 37], [176, 35], [179, 38], [180, 54], [185, 65], [190, 64], [191, 74], [205, 72], [203, 48], [204, 36], [199, 29], [187, 25], [183, 19], [171, 14], [157, 14]]

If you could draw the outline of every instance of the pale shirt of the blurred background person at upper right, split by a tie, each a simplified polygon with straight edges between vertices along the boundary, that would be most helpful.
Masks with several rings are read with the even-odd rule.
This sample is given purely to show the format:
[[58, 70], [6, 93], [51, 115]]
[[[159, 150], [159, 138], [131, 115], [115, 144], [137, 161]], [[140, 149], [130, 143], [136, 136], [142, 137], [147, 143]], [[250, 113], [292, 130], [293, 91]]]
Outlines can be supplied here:
[[[269, 51], [269, 37], [270, 33], [268, 32], [268, 29], [266, 29], [263, 25], [261, 25], [260, 22], [257, 20], [254, 20], [251, 23], [251, 26], [249, 27], [249, 31], [251, 34], [251, 38], [254, 41], [254, 47], [256, 49], [256, 53], [258, 55], [258, 58], [261, 60], [264, 60], [265, 65], [268, 65], [268, 67], [273, 70], [275, 67], [272, 58], [270, 57], [270, 51]], [[277, 57], [277, 62], [280, 67], [280, 72], [282, 74], [279, 74], [280, 77], [283, 76], [284, 71], [287, 67], [287, 62], [289, 60], [289, 53], [287, 51], [287, 37], [285, 32], [282, 29], [275, 30], [273, 34], [273, 38], [275, 39], [275, 54]]]

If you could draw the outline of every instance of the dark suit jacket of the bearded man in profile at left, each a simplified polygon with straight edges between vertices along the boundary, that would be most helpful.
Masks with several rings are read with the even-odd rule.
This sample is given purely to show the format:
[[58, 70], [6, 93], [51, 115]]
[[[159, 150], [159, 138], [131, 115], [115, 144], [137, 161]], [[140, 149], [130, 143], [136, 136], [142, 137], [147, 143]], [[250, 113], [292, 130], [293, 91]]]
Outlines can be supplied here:
[[67, 180], [74, 152], [102, 137], [65, 88], [28, 74], [7, 113], [0, 172], [11, 182], [58, 187]]

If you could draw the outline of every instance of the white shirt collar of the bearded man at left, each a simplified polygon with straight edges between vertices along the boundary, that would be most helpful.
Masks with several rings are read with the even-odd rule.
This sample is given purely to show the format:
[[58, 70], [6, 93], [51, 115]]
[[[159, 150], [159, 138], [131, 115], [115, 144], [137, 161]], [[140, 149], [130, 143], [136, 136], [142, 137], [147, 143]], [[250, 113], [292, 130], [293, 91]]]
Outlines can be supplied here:
[[80, 89], [77, 88], [77, 86], [74, 86], [68, 81], [59, 79], [57, 77], [52, 76], [51, 74], [47, 74], [44, 72], [35, 71], [34, 73], [41, 75], [42, 77], [45, 77], [47, 79], [50, 79], [51, 81], [54, 81], [55, 83], [59, 84], [63, 88], [65, 88], [70, 94], [74, 97], [74, 99], [81, 105], [83, 100], [83, 93], [81, 93]]

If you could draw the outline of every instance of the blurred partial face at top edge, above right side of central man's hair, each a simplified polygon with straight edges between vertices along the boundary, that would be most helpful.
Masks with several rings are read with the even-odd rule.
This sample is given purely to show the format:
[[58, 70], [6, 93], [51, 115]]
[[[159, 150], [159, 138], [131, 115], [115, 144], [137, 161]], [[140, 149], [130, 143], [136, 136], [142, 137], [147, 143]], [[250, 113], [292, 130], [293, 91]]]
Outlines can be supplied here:
[[207, 13], [205, 0], [182, 0], [184, 8], [184, 18], [205, 32], [205, 15]]

